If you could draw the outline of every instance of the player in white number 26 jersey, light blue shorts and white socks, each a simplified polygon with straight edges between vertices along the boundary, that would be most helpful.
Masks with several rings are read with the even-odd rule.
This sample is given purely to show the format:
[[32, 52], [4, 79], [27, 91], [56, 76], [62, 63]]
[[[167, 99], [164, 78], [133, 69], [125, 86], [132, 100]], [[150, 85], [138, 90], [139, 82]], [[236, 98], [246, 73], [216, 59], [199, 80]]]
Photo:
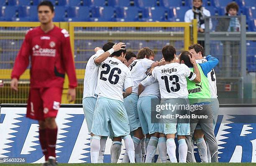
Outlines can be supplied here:
[[[123, 47], [125, 49], [125, 47]], [[126, 50], [119, 50], [99, 66], [96, 94], [98, 95], [92, 121], [91, 161], [97, 163], [101, 136], [110, 135], [110, 123], [115, 137], [123, 136], [131, 163], [135, 163], [134, 144], [130, 135], [128, 115], [123, 99], [131, 94], [133, 79], [123, 64]], [[123, 92], [125, 88], [125, 92]]]

